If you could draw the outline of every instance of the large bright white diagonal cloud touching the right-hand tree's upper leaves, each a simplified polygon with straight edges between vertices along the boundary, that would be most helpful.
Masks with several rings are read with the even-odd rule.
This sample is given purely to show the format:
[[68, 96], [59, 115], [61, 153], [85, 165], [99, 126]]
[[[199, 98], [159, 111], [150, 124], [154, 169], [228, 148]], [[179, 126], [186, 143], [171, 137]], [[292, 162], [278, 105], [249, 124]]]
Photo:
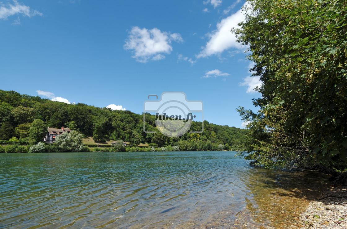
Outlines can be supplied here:
[[[246, 4], [246, 3], [245, 3]], [[237, 27], [237, 24], [245, 19], [242, 9], [238, 10], [233, 15], [222, 19], [217, 23], [217, 29], [210, 34], [206, 34], [210, 40], [202, 47], [202, 51], [196, 55], [197, 58], [208, 57], [215, 54], [221, 54], [229, 48], [236, 48], [243, 50], [241, 44], [236, 42], [236, 37], [230, 32], [230, 29]]]

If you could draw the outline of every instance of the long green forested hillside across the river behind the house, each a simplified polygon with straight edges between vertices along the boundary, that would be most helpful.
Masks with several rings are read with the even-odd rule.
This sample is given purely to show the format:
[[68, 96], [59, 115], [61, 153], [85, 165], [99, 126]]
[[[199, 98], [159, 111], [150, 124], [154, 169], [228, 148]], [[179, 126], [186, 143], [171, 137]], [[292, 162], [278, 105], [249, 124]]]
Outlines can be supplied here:
[[[200, 135], [187, 132], [181, 137], [169, 138], [156, 130], [153, 115], [146, 114], [145, 117], [146, 130], [156, 131], [156, 134], [146, 134], [143, 131], [142, 114], [112, 111], [110, 108], [83, 103], [67, 104], [0, 90], [0, 140], [18, 139], [28, 143], [30, 134], [33, 135], [35, 131], [32, 123], [35, 126], [42, 123], [40, 125], [45, 128], [69, 127], [85, 136], [93, 136], [98, 141], [111, 139], [128, 141], [132, 145], [152, 143], [159, 147], [177, 145], [181, 150], [217, 150], [220, 144], [224, 149], [234, 148], [246, 131], [204, 121], [204, 131]], [[193, 121], [189, 131], [201, 130], [201, 124]], [[36, 142], [33, 141], [32, 144]]]

